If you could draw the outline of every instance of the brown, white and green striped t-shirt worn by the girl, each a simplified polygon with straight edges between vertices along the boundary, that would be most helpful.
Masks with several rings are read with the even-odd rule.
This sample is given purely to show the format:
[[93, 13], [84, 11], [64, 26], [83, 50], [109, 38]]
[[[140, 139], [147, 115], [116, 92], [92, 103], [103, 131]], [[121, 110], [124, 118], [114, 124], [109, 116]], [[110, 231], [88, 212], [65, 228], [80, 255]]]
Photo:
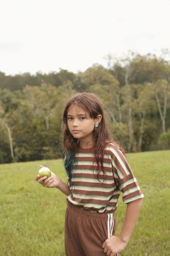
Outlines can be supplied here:
[[113, 143], [105, 147], [105, 180], [102, 171], [97, 175], [91, 168], [93, 163], [92, 148], [79, 148], [73, 164], [71, 194], [67, 196], [70, 203], [85, 210], [111, 213], [117, 209], [120, 192], [124, 204], [144, 197], [125, 156]]

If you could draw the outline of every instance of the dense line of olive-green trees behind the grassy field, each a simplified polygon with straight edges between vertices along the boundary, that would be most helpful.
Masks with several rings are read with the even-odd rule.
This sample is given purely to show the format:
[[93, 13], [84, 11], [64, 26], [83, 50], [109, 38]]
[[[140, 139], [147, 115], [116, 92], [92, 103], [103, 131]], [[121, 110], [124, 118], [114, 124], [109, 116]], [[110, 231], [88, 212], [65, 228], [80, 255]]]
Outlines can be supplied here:
[[62, 111], [76, 92], [95, 93], [128, 152], [170, 147], [170, 64], [163, 56], [108, 56], [84, 72], [0, 72], [0, 163], [62, 155]]

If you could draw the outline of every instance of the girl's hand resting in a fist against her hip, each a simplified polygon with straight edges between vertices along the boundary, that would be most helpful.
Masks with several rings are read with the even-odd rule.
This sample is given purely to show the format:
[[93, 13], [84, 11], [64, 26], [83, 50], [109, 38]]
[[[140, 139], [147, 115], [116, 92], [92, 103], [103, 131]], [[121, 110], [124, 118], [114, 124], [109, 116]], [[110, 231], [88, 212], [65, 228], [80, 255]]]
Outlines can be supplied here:
[[116, 253], [124, 250], [127, 245], [128, 242], [122, 241], [119, 237], [111, 236], [104, 241], [102, 247], [107, 256], [114, 256]]

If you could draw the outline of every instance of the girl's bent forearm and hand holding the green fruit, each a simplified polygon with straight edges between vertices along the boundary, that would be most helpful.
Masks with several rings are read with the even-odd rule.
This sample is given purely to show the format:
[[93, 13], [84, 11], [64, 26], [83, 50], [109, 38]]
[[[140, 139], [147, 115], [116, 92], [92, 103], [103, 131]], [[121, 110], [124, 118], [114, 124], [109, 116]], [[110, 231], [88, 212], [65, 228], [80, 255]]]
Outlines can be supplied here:
[[41, 183], [41, 185], [44, 187], [58, 188], [66, 196], [71, 194], [68, 185], [64, 183], [59, 177], [57, 177], [53, 172], [51, 172], [51, 176], [48, 178], [46, 176], [40, 178], [40, 175], [37, 175], [36, 180], [39, 181], [39, 183]]

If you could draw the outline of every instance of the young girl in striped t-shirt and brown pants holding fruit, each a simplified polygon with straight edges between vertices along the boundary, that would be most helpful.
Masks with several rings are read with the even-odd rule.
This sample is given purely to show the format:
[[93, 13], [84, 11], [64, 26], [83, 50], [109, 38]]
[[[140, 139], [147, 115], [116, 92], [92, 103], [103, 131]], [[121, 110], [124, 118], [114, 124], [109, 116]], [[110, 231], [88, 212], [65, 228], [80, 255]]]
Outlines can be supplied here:
[[[63, 162], [68, 184], [52, 173], [37, 175], [44, 187], [67, 195], [66, 256], [113, 256], [125, 249], [142, 205], [143, 193], [123, 148], [109, 133], [104, 110], [95, 94], [70, 98], [63, 112]], [[114, 236], [118, 197], [127, 204], [119, 236]]]

